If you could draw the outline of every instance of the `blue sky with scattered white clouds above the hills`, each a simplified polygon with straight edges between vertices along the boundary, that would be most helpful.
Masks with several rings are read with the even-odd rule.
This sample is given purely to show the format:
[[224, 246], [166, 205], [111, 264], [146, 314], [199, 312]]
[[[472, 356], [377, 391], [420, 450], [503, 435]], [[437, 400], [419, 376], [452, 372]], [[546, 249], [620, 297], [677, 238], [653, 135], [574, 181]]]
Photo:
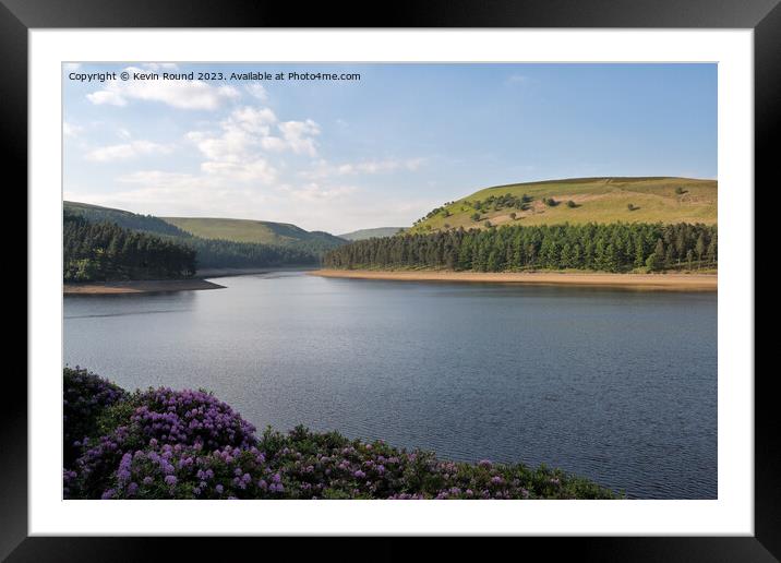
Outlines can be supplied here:
[[65, 63], [62, 130], [65, 200], [344, 233], [491, 185], [716, 179], [717, 65]]

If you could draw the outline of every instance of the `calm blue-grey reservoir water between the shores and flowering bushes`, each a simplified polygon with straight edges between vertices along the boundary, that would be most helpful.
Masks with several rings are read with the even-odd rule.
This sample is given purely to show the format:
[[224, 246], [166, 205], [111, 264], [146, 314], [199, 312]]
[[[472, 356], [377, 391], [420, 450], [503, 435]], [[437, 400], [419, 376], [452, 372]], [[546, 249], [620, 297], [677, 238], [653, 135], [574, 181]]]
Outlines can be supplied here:
[[205, 387], [259, 429], [545, 463], [630, 498], [717, 496], [717, 296], [216, 279], [69, 296], [64, 361], [125, 388]]

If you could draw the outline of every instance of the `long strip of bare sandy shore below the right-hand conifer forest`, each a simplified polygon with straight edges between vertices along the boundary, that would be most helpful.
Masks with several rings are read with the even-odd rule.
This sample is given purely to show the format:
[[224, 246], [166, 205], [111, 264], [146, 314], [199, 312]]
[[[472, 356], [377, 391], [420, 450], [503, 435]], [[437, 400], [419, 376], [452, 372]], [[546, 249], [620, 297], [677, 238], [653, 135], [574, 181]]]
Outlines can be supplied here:
[[316, 269], [307, 275], [395, 282], [459, 282], [488, 284], [528, 284], [544, 286], [622, 287], [664, 291], [718, 291], [717, 274], [609, 274], [556, 272], [452, 272], [452, 271], [372, 271]]

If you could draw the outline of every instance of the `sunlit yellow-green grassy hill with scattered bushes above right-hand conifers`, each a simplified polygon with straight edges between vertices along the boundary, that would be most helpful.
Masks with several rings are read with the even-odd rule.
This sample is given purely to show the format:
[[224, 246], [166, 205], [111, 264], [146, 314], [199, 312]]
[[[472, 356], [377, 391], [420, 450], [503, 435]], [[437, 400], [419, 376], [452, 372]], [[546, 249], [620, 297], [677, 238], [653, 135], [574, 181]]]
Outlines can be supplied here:
[[[496, 201], [506, 194], [512, 196], [505, 197], [509, 204]], [[527, 197], [521, 204], [524, 195]], [[485, 228], [486, 220], [493, 226], [591, 221], [712, 225], [717, 223], [717, 203], [716, 180], [665, 177], [550, 180], [480, 190], [433, 209], [410, 231]], [[516, 214], [515, 219], [510, 213]], [[476, 218], [476, 214], [480, 217]]]

